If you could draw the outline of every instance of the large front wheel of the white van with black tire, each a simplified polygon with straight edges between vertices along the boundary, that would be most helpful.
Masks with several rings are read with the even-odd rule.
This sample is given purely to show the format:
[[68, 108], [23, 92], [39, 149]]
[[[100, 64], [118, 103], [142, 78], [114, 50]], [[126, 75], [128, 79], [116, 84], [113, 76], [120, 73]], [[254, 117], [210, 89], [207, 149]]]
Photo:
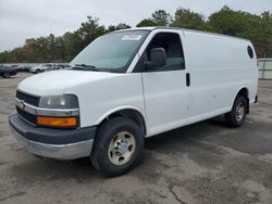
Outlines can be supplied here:
[[[119, 155], [120, 152], [118, 152], [118, 154], [114, 154], [113, 152], [116, 152], [115, 148], [119, 141], [123, 141], [118, 137], [123, 132], [128, 133], [124, 135], [124, 137], [129, 136], [129, 140], [133, 140], [135, 142], [135, 145], [132, 144], [131, 146], [126, 146], [126, 149], [118, 146], [121, 149], [121, 151], [127, 151], [121, 155]], [[111, 151], [112, 143], [114, 143], [113, 151]], [[122, 145], [126, 144], [122, 143]], [[108, 177], [120, 176], [128, 173], [138, 163], [144, 145], [144, 132], [135, 122], [125, 117], [114, 117], [110, 120], [107, 120], [99, 127], [92, 146], [92, 152], [90, 154], [90, 161], [94, 167], [96, 169], [99, 169], [103, 175]], [[126, 153], [131, 156], [127, 156], [127, 160], [125, 157], [122, 158], [123, 155], [127, 155]], [[116, 161], [116, 163], [120, 164], [116, 165], [112, 162], [114, 157], [113, 155], [120, 156]], [[122, 162], [125, 163], [121, 164]]]

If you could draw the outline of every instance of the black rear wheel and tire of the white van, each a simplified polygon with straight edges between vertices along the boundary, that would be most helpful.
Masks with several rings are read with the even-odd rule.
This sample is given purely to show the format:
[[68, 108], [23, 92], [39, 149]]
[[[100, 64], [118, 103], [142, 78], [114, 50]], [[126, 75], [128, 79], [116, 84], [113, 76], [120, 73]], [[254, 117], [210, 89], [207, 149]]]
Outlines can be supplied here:
[[225, 114], [225, 122], [226, 125], [231, 127], [240, 127], [243, 126], [245, 119], [246, 119], [246, 114], [247, 114], [247, 100], [243, 95], [237, 95], [232, 111]]

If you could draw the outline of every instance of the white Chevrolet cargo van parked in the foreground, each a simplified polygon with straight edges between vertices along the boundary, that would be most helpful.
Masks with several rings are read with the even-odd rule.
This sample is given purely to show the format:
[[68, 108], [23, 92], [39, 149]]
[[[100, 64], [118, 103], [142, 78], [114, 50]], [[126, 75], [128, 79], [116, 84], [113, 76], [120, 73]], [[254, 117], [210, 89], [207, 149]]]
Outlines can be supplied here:
[[23, 80], [14, 136], [33, 154], [90, 156], [108, 176], [132, 169], [145, 138], [225, 114], [243, 125], [257, 100], [250, 41], [178, 28], [136, 28], [97, 38], [66, 71]]

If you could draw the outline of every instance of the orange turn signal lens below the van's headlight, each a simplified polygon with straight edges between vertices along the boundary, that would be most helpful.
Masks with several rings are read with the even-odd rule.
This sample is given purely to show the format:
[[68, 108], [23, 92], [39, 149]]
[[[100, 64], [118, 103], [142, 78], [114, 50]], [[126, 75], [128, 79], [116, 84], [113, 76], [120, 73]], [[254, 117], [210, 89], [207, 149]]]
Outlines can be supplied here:
[[37, 117], [37, 124], [52, 127], [75, 127], [76, 117]]

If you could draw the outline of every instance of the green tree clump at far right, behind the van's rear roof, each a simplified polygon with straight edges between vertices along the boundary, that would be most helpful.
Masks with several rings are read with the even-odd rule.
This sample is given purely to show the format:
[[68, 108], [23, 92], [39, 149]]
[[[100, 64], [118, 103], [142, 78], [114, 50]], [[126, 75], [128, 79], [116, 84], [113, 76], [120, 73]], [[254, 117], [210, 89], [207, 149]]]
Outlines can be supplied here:
[[252, 41], [259, 58], [272, 56], [272, 15], [254, 15], [227, 7], [210, 15], [210, 31], [246, 38]]

